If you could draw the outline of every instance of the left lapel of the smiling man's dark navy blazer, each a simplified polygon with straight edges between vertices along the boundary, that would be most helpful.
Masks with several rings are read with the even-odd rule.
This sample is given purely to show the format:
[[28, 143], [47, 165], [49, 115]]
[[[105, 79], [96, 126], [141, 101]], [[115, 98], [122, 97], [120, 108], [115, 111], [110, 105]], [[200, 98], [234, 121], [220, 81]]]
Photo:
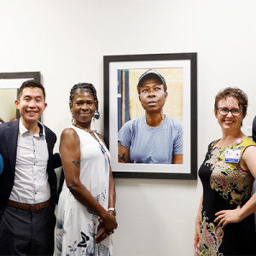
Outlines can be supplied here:
[[5, 131], [6, 147], [9, 154], [9, 162], [13, 173], [15, 173], [16, 166], [19, 121], [20, 119], [15, 120], [14, 122], [10, 122], [9, 129]]

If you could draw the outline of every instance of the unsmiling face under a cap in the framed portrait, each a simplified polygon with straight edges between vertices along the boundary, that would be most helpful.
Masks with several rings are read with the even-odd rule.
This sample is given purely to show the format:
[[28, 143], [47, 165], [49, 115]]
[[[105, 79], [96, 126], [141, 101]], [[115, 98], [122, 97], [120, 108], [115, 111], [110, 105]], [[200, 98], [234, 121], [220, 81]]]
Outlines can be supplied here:
[[139, 100], [147, 113], [159, 113], [164, 107], [167, 92], [158, 79], [145, 79], [140, 85]]

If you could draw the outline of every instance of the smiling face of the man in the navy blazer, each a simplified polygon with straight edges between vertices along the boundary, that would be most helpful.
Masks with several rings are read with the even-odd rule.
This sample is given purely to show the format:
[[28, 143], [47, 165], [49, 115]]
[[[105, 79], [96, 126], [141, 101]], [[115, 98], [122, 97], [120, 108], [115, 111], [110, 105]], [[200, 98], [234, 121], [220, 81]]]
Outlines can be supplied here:
[[38, 122], [47, 107], [47, 103], [44, 102], [43, 90], [38, 87], [25, 87], [20, 101], [15, 101], [15, 106], [20, 110], [21, 119], [25, 122]]

